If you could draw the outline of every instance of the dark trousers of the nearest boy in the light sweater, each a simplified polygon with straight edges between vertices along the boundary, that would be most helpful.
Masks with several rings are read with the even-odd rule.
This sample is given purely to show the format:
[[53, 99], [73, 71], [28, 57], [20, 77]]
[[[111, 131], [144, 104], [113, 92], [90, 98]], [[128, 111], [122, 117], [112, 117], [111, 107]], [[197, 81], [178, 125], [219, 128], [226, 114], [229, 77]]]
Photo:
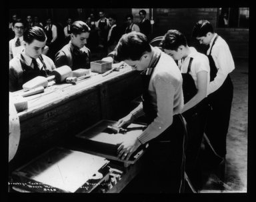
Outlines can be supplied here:
[[[180, 116], [180, 117], [179, 117]], [[159, 137], [149, 141], [141, 173], [127, 192], [181, 193], [185, 171], [185, 125], [181, 115]]]

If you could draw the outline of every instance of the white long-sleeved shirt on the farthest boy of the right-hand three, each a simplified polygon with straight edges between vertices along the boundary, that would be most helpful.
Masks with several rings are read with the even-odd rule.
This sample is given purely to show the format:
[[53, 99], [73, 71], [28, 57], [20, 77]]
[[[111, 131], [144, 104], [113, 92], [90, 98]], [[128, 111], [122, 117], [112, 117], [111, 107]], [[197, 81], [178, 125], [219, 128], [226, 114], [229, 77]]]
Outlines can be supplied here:
[[[210, 42], [210, 47], [207, 50], [207, 55], [209, 55], [211, 46], [213, 45], [213, 41], [216, 36], [217, 33], [214, 33], [213, 38]], [[218, 71], [215, 79], [211, 81], [209, 85], [209, 93], [213, 93], [214, 91], [219, 89], [219, 87], [221, 87], [221, 85], [227, 78], [227, 75], [235, 69], [235, 64], [229, 50], [229, 45], [227, 45], [227, 42], [220, 36], [216, 39], [215, 45], [213, 45], [211, 55]]]

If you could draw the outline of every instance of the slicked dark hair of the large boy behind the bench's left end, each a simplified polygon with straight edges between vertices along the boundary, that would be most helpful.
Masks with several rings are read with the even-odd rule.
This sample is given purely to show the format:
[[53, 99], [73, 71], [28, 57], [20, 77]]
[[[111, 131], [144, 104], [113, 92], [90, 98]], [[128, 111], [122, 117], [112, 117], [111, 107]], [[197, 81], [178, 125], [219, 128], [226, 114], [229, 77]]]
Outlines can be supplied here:
[[27, 43], [32, 43], [36, 39], [37, 41], [44, 42], [47, 37], [45, 35], [45, 31], [41, 27], [30, 27], [23, 34], [23, 40]]

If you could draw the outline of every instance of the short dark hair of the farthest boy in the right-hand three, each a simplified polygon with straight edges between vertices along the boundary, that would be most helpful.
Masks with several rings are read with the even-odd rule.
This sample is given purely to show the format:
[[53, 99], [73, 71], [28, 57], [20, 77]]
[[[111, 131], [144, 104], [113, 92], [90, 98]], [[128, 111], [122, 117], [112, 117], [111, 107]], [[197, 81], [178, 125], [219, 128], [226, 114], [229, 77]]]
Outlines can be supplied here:
[[193, 28], [192, 37], [205, 37], [209, 32], [214, 33], [213, 25], [207, 20], [200, 20]]

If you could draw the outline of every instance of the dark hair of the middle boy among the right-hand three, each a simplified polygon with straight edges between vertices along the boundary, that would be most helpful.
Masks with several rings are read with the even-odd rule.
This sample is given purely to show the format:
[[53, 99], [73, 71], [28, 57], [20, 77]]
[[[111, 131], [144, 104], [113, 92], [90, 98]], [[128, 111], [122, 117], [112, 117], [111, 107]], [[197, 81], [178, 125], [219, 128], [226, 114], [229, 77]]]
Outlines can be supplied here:
[[176, 29], [170, 29], [165, 33], [160, 46], [163, 49], [169, 49], [177, 51], [180, 45], [187, 46], [187, 39], [183, 33]]

